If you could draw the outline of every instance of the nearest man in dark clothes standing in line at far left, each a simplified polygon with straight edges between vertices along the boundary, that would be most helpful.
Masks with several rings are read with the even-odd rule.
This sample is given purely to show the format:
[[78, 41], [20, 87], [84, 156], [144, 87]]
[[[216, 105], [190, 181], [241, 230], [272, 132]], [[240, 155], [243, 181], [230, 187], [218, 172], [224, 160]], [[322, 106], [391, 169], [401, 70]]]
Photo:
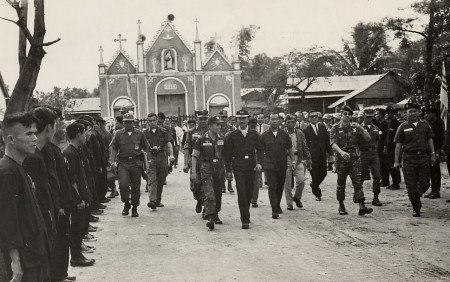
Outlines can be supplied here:
[[37, 191], [22, 166], [36, 150], [36, 123], [31, 113], [6, 116], [2, 123], [5, 155], [0, 160], [0, 247], [11, 281], [50, 280], [47, 230]]

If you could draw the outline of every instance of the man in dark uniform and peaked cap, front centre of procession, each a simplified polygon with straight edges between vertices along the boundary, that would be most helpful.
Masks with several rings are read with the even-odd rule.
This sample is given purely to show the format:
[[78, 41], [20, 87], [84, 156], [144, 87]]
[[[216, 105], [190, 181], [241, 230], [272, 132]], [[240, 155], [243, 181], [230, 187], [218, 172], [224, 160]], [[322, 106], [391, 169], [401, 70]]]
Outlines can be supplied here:
[[239, 110], [236, 117], [239, 128], [225, 137], [225, 170], [227, 178], [231, 178], [234, 174], [242, 229], [248, 229], [250, 228], [249, 207], [255, 185], [255, 171], [262, 169], [263, 151], [258, 133], [248, 130], [248, 112]]

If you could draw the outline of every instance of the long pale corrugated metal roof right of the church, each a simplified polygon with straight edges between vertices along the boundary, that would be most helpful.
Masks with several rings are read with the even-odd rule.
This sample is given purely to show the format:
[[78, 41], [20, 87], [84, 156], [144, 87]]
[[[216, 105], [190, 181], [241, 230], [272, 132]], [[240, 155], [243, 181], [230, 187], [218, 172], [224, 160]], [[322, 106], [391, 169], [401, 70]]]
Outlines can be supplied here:
[[[316, 77], [316, 80], [306, 90], [306, 93], [353, 91], [366, 85], [372, 85], [385, 75], [386, 73], [377, 75]], [[296, 85], [299, 81], [299, 78], [294, 78], [293, 85]], [[302, 81], [297, 87], [303, 90], [306, 86], [307, 82]]]

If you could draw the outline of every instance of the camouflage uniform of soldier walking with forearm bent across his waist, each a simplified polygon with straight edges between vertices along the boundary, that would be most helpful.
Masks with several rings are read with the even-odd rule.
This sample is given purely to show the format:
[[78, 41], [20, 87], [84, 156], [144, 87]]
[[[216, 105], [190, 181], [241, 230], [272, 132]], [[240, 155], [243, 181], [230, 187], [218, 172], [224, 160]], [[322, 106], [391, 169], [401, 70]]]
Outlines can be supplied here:
[[331, 145], [337, 144], [339, 148], [350, 155], [350, 159], [345, 160], [340, 154], [336, 154], [336, 173], [338, 176], [336, 197], [339, 202], [345, 200], [345, 182], [348, 175], [350, 175], [354, 188], [353, 201], [358, 203], [365, 201], [361, 179], [361, 158], [358, 150], [363, 142], [363, 131], [364, 129], [353, 122], [347, 126], [339, 122], [331, 128]]

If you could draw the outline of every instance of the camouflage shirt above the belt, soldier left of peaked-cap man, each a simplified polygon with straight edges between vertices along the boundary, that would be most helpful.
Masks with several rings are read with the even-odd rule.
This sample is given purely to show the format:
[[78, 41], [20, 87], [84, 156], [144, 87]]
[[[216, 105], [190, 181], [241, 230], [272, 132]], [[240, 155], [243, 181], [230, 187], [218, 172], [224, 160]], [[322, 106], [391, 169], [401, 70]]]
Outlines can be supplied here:
[[214, 161], [223, 159], [224, 137], [217, 134], [214, 140], [209, 131], [197, 139], [194, 144], [194, 150], [200, 152], [199, 159], [201, 161]]

